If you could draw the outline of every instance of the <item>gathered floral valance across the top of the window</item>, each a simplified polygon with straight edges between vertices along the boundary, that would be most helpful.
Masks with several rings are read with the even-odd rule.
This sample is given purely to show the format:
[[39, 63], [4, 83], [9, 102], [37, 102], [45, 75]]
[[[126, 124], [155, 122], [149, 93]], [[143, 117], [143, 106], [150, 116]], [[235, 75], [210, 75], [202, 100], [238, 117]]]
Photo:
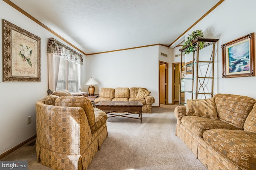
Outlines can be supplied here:
[[54, 53], [69, 61], [83, 65], [83, 56], [54, 38], [48, 38], [47, 53]]

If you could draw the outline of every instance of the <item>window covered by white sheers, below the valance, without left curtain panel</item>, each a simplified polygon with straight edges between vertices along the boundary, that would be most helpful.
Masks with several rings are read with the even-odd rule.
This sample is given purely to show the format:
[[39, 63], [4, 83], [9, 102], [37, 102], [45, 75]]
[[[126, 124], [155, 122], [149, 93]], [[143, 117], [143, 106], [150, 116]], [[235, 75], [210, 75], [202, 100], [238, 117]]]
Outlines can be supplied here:
[[79, 92], [81, 65], [73, 61], [60, 58], [58, 81], [56, 90], [66, 89], [69, 92]]

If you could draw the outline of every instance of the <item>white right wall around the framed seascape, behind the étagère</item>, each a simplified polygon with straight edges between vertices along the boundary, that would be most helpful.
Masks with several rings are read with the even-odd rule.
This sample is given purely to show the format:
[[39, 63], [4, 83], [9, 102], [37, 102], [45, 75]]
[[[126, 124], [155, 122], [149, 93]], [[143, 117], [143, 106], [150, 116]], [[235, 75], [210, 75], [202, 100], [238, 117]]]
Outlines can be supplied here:
[[[256, 77], [222, 78], [221, 45], [256, 31], [256, 1], [225, 0], [213, 12], [190, 29], [202, 29], [205, 38], [217, 38], [215, 56], [214, 94], [228, 93], [256, 98]], [[209, 49], [210, 51], [212, 49]], [[187, 62], [187, 61], [186, 61]]]

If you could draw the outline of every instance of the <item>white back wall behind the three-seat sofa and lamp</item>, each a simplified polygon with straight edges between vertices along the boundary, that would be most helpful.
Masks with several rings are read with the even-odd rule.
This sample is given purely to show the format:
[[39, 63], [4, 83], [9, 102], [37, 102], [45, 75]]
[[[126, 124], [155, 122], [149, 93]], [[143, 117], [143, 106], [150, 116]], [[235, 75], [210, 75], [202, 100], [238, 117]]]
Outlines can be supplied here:
[[[95, 94], [102, 87], [144, 87], [151, 92], [159, 106], [158, 82], [159, 61], [158, 45], [102, 53], [86, 56], [86, 81], [93, 77], [99, 85], [95, 85]], [[84, 82], [85, 83], [85, 82]], [[82, 91], [88, 86], [82, 83]]]

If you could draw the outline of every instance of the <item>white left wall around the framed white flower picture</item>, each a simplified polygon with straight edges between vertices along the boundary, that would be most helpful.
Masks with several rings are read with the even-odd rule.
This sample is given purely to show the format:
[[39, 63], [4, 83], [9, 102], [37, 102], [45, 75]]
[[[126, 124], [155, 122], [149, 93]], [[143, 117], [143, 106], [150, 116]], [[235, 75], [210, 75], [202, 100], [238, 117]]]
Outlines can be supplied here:
[[[48, 89], [47, 41], [48, 37], [58, 38], [2, 0], [0, 19], [1, 55], [3, 53], [2, 19], [41, 38], [41, 82], [2, 82], [2, 59], [0, 60], [0, 154], [2, 154], [36, 135], [35, 103], [47, 96]], [[27, 117], [30, 115], [32, 123], [27, 124]]]

